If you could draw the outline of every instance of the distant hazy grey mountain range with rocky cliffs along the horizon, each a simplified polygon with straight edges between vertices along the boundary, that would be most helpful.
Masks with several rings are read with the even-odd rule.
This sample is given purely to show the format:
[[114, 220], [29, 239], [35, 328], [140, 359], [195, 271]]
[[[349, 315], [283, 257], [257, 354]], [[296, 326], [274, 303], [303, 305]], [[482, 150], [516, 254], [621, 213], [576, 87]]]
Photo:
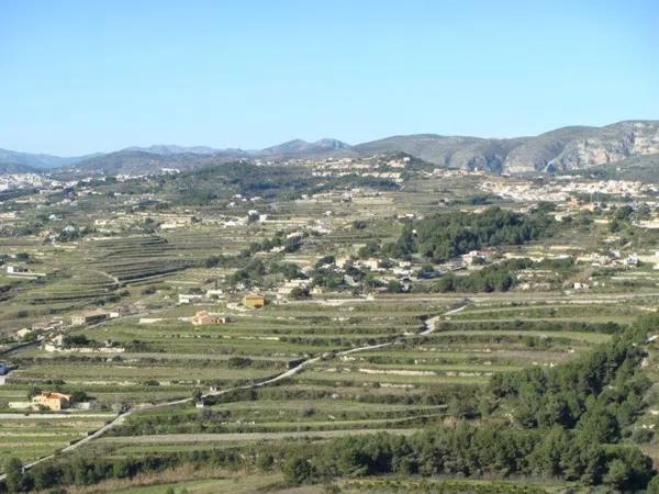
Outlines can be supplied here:
[[603, 127], [569, 126], [535, 137], [516, 138], [414, 134], [357, 145], [331, 138], [315, 143], [294, 139], [259, 150], [155, 145], [129, 147], [108, 154], [58, 157], [0, 149], [0, 165], [12, 165], [14, 170], [16, 166], [24, 169], [75, 166], [76, 169], [90, 172], [147, 173], [164, 167], [190, 169], [239, 158], [277, 160], [395, 151], [406, 153], [438, 167], [481, 169], [494, 173], [570, 171], [616, 162], [622, 166], [647, 166], [647, 162], [657, 162], [659, 121], [626, 121]]

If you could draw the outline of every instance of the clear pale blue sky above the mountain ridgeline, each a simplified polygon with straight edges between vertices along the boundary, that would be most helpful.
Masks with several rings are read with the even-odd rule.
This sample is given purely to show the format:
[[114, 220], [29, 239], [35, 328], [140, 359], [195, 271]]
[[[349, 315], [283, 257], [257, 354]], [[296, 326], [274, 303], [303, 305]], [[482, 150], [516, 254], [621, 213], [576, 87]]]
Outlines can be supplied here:
[[0, 0], [0, 147], [259, 148], [659, 119], [659, 2]]

